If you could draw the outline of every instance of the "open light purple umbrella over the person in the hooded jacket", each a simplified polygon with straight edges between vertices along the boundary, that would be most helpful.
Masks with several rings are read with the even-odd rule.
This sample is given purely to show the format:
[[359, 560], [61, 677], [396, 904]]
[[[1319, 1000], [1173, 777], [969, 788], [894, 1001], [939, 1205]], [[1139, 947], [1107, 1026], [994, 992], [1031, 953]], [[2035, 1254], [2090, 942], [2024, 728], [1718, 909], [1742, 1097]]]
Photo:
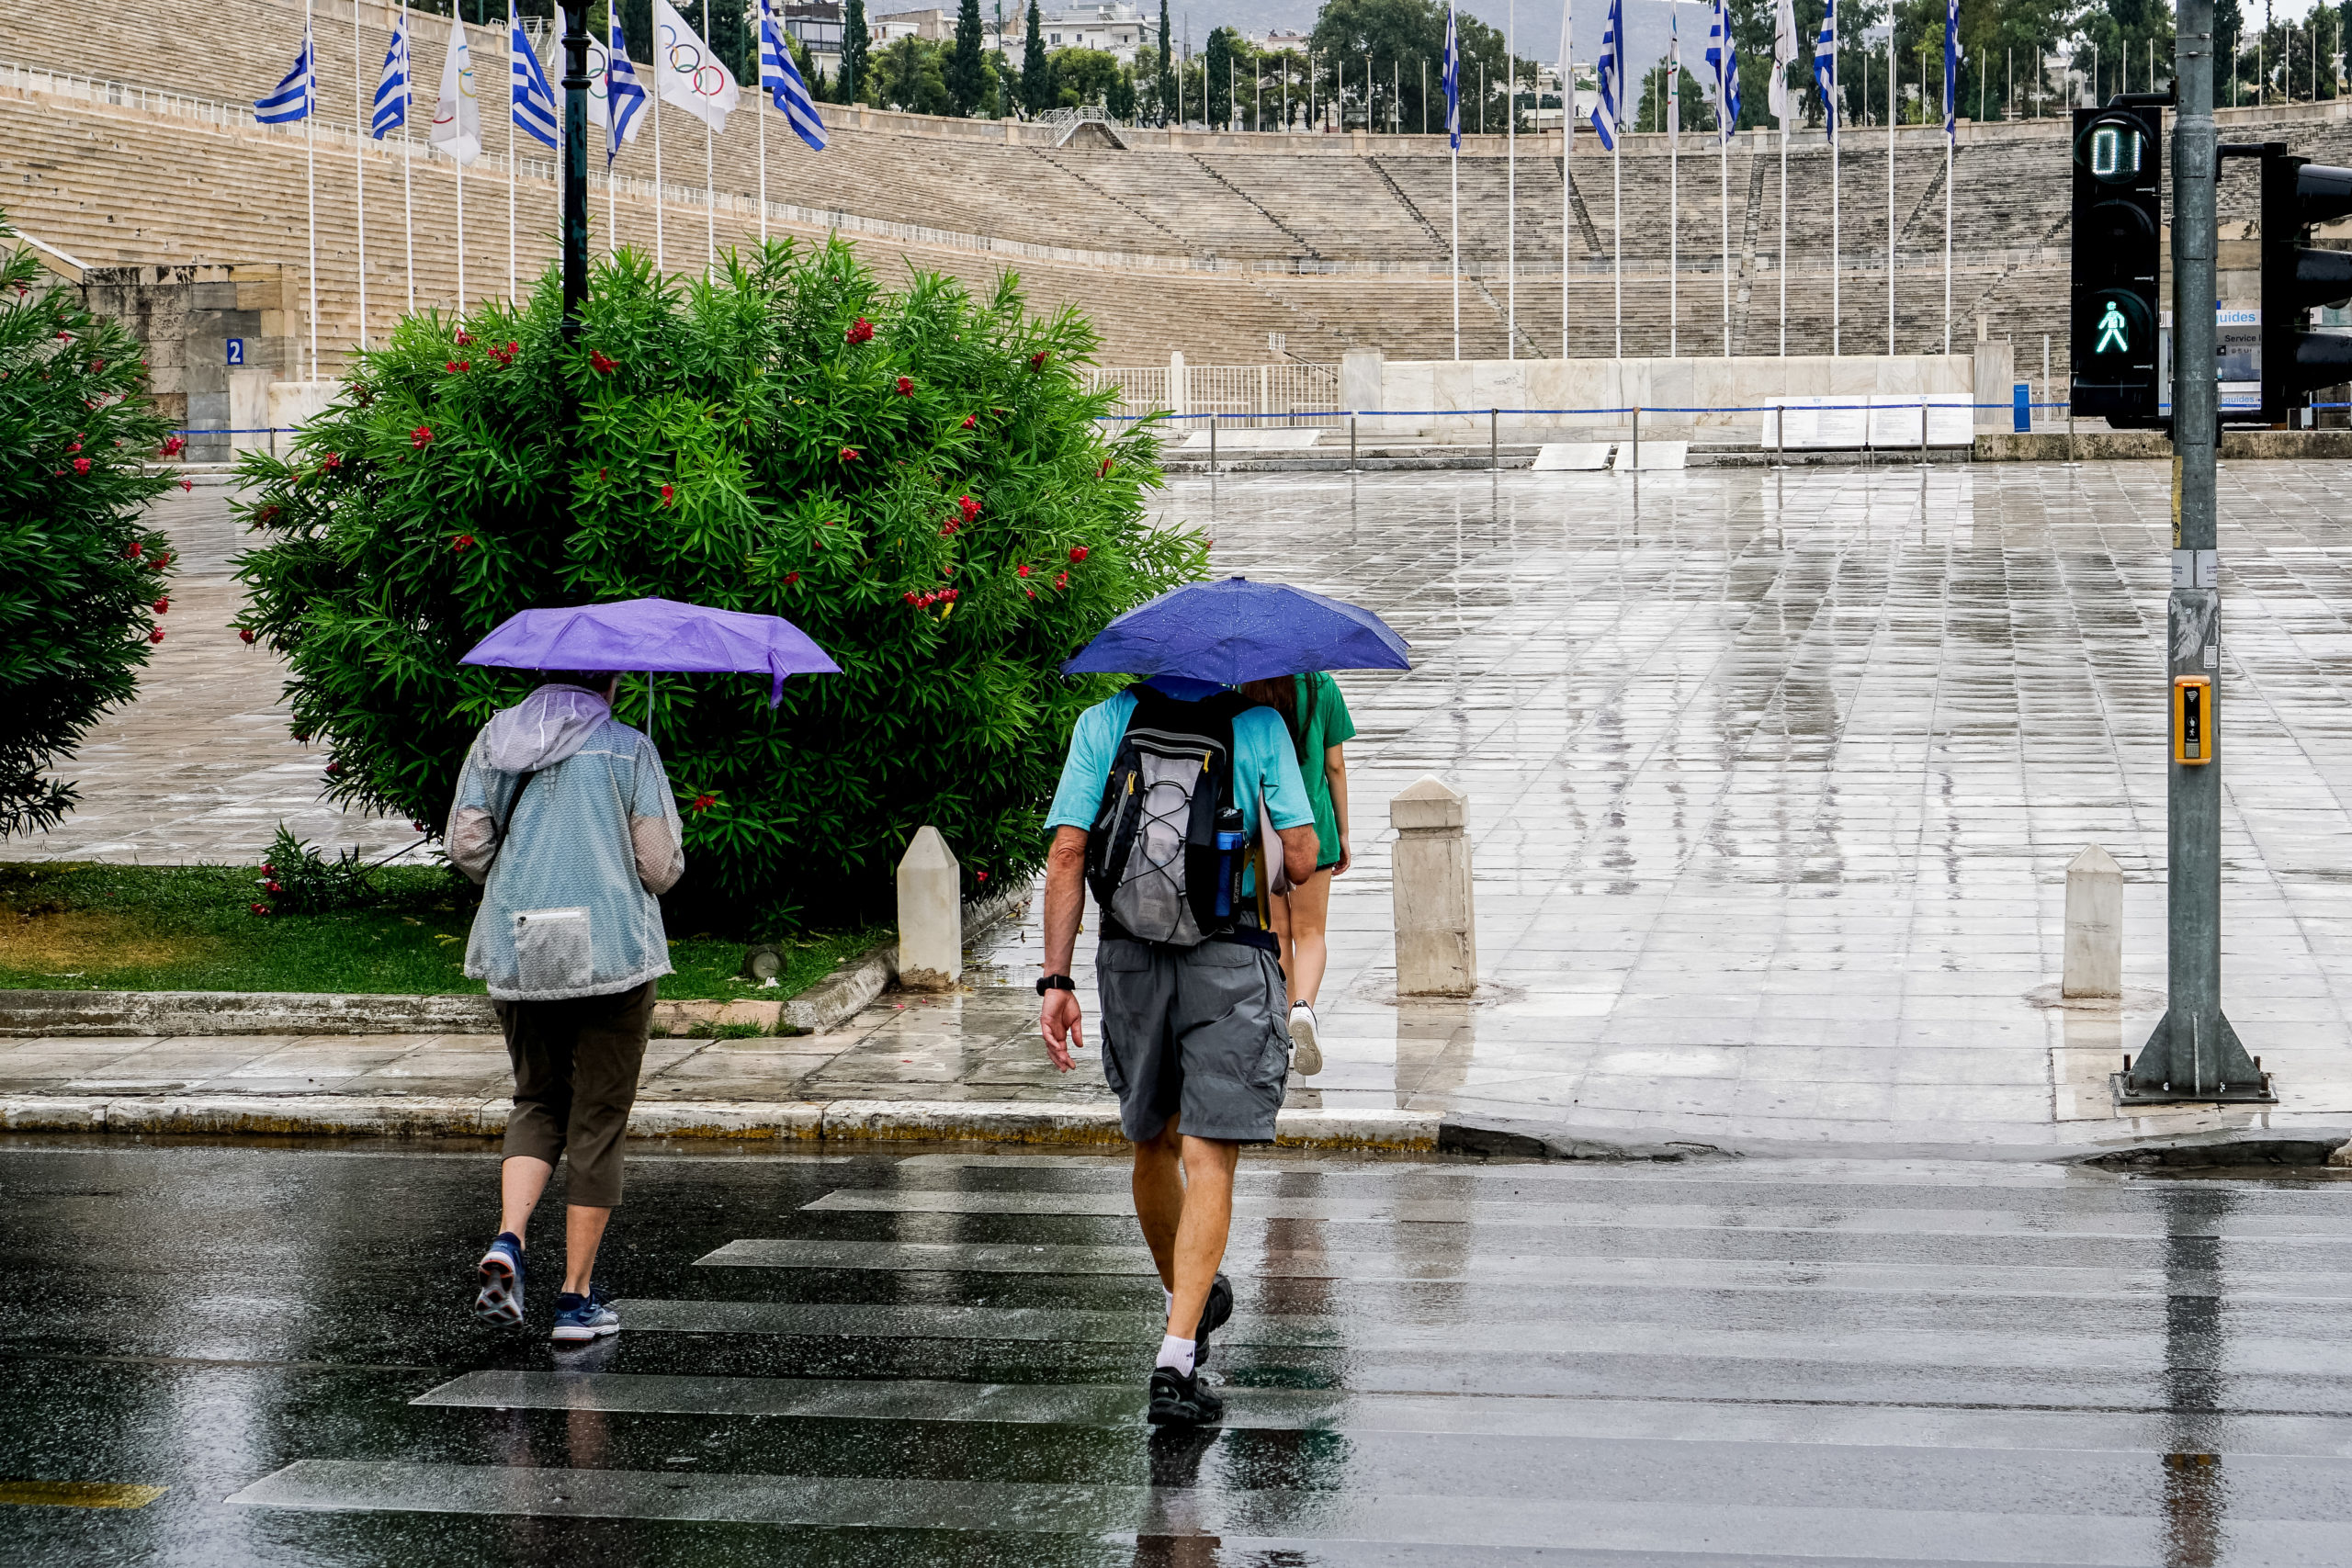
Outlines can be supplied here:
[[783, 701], [786, 675], [840, 675], [842, 668], [783, 616], [706, 609], [677, 599], [621, 599], [572, 609], [527, 609], [473, 644], [459, 663], [508, 670], [689, 670], [767, 672], [767, 705]]

